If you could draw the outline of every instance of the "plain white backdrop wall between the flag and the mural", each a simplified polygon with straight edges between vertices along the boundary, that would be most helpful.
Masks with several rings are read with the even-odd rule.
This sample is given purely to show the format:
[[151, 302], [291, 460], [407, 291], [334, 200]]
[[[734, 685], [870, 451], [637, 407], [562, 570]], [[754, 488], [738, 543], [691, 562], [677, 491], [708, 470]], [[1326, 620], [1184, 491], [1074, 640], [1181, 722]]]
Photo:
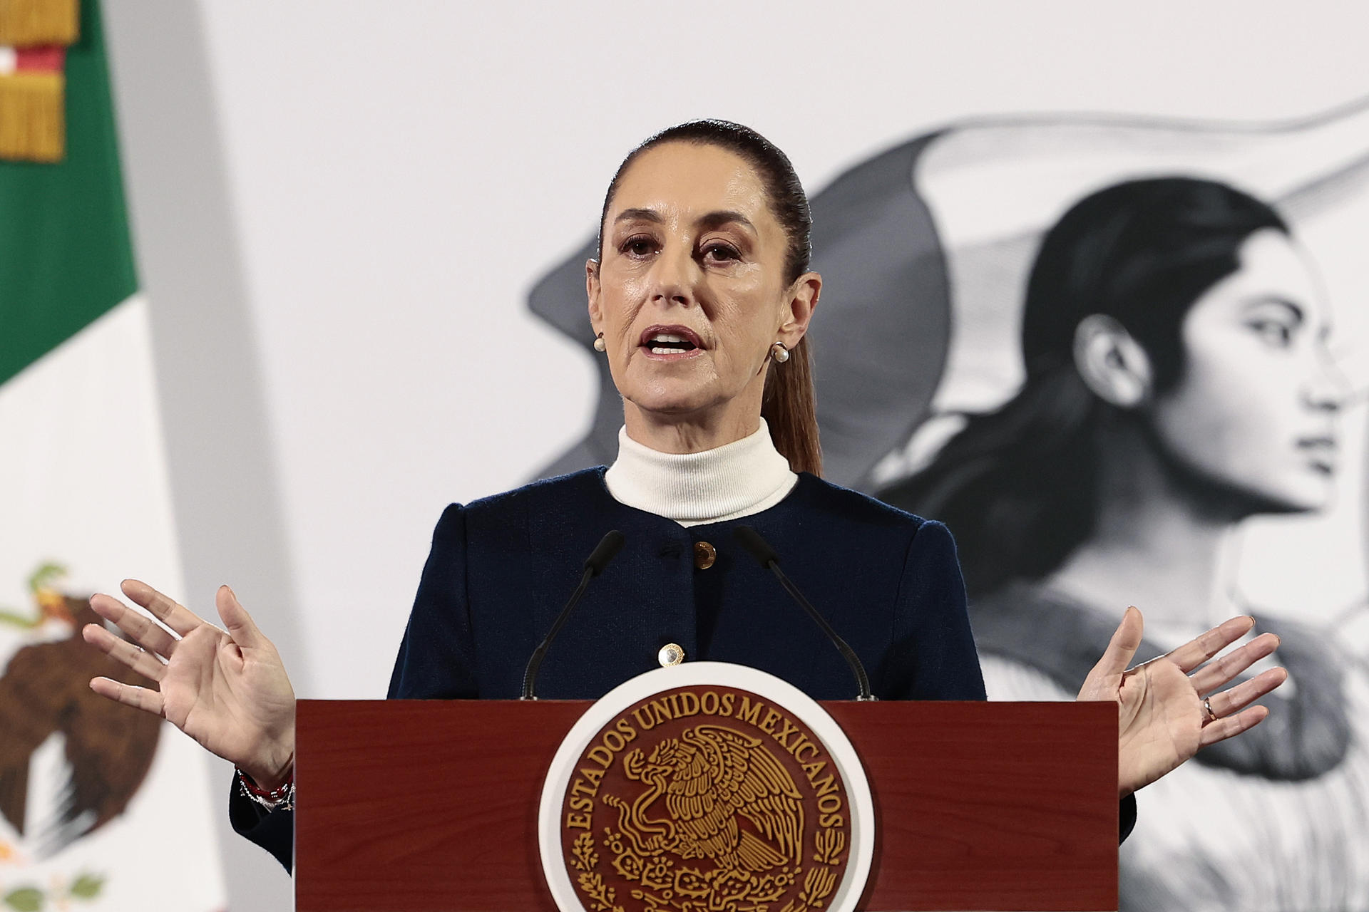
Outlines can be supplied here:
[[[526, 295], [652, 131], [747, 123], [816, 191], [973, 115], [1268, 120], [1369, 96], [1369, 7], [1346, 3], [105, 15], [182, 595], [205, 608], [233, 582], [308, 697], [383, 696], [441, 509], [583, 433], [593, 366]], [[225, 852], [234, 908], [287, 908], [274, 861]]]

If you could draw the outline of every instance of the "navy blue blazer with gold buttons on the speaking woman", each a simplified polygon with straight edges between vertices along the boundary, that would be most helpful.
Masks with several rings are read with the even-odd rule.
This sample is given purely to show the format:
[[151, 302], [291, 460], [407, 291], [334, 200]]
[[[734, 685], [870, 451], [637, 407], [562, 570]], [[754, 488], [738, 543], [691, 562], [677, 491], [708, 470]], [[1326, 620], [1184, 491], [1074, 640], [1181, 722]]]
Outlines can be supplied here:
[[[841, 655], [732, 539], [754, 526], [780, 566], [865, 665], [883, 700], [983, 700], [956, 546], [943, 525], [801, 474], [776, 506], [690, 528], [615, 500], [605, 469], [538, 481], [467, 506], [433, 533], [390, 697], [517, 699], [523, 669], [609, 529], [622, 552], [597, 577], [542, 665], [545, 699], [597, 699], [658, 667], [735, 662], [817, 700], [852, 699]], [[716, 550], [708, 569], [695, 543]], [[290, 866], [293, 818], [230, 804], [234, 829]]]

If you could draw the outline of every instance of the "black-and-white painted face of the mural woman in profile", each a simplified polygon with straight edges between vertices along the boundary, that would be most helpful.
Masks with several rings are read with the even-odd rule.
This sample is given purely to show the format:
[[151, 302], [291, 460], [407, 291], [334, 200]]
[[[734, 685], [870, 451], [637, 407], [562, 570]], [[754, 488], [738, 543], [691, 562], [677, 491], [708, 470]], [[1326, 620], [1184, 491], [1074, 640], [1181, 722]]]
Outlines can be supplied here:
[[1154, 428], [1180, 465], [1251, 498], [1251, 511], [1318, 509], [1340, 397], [1327, 304], [1283, 232], [1253, 234], [1239, 260], [1184, 317], [1183, 375], [1151, 405]]

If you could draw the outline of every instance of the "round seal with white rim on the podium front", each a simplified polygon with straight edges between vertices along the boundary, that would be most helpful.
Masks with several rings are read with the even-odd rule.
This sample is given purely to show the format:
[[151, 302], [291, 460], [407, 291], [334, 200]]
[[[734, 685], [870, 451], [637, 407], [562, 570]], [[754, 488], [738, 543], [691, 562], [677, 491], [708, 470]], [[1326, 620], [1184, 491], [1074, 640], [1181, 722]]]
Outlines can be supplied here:
[[571, 727], [538, 844], [561, 912], [780, 896], [849, 912], [875, 803], [817, 701], [756, 669], [690, 662], [620, 684]]

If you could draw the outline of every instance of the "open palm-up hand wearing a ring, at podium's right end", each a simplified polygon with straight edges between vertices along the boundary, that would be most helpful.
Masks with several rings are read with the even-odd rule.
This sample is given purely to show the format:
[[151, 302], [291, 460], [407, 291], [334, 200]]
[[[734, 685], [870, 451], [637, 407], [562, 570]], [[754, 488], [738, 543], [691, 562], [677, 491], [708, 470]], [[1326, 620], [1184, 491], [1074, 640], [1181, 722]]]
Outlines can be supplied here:
[[[1120, 796], [1150, 785], [1199, 748], [1235, 737], [1269, 715], [1262, 706], [1242, 708], [1283, 684], [1288, 678], [1285, 670], [1269, 669], [1228, 690], [1218, 688], [1272, 654], [1279, 637], [1262, 633], [1229, 655], [1203, 665], [1254, 625], [1250, 617], [1232, 618], [1173, 652], [1127, 669], [1144, 628], [1140, 611], [1127, 608], [1077, 697], [1117, 701]], [[1210, 714], [1207, 707], [1212, 707]]]

